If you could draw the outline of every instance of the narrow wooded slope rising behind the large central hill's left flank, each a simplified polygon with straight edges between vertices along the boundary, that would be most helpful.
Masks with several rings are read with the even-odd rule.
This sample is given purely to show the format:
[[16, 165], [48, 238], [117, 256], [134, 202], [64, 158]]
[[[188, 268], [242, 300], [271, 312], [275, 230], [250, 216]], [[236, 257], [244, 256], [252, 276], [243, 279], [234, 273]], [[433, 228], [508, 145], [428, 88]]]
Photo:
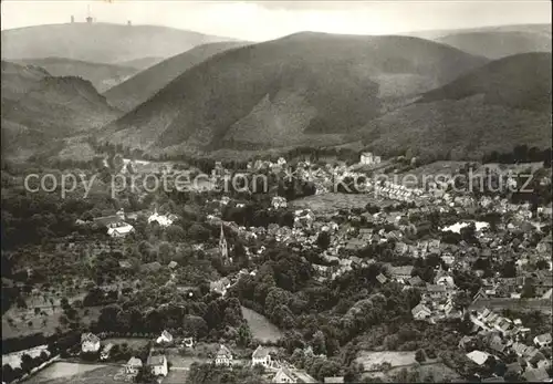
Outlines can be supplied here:
[[167, 59], [104, 93], [109, 104], [131, 111], [169, 84], [175, 77], [212, 55], [244, 45], [244, 42], [220, 42], [195, 46]]

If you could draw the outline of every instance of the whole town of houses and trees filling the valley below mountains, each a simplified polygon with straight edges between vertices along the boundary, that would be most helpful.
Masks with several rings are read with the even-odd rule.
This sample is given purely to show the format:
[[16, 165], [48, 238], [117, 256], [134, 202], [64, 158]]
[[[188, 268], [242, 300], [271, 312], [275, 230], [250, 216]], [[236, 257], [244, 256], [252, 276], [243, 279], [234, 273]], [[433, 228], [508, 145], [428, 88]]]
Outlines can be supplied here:
[[[81, 172], [201, 172], [169, 163]], [[205, 170], [186, 191], [98, 180], [65, 200], [2, 170], [6, 383], [551, 382], [551, 164], [361, 152]]]

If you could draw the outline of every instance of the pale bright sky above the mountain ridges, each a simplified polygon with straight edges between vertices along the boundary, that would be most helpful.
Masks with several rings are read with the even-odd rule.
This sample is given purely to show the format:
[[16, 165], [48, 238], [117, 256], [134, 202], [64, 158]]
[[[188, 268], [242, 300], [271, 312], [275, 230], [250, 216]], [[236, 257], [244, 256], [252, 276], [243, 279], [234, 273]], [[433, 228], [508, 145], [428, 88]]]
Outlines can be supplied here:
[[2, 0], [2, 30], [84, 21], [155, 24], [240, 40], [300, 31], [393, 34], [434, 29], [551, 23], [550, 1]]

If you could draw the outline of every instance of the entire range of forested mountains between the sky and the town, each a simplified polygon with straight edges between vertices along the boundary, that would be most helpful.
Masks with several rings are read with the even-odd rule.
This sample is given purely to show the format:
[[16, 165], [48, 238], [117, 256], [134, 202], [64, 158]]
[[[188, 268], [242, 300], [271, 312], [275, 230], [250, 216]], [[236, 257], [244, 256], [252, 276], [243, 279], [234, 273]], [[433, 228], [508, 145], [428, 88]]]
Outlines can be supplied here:
[[[17, 58], [2, 61], [2, 155], [90, 157], [88, 135], [154, 155], [227, 157], [358, 139], [430, 159], [546, 147], [549, 27], [262, 43], [114, 24], [2, 31], [2, 59]], [[67, 37], [46, 44], [41, 33]]]

